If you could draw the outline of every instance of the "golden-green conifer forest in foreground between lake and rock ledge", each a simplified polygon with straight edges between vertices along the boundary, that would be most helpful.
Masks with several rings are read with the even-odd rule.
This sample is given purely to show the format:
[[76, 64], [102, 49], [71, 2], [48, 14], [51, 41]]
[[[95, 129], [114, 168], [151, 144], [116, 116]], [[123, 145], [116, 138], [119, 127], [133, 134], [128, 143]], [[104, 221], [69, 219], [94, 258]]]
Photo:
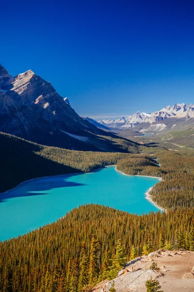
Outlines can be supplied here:
[[137, 216], [99, 205], [0, 243], [0, 291], [81, 292], [159, 248], [194, 251], [194, 210]]

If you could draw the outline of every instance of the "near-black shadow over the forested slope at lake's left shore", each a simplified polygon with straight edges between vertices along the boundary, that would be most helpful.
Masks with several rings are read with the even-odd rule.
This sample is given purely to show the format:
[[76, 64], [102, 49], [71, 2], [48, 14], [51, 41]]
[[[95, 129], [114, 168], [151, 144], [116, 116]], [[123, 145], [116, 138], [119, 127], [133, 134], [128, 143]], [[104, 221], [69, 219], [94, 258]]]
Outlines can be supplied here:
[[36, 154], [41, 148], [42, 146], [23, 139], [0, 133], [0, 193], [34, 178], [81, 173], [79, 169]]

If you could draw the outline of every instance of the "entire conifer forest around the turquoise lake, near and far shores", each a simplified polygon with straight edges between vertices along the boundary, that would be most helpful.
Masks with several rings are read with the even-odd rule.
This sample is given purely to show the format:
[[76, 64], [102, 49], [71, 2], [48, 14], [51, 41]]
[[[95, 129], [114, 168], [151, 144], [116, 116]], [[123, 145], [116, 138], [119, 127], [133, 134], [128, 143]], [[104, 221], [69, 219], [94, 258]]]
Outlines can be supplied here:
[[194, 251], [193, 151], [140, 146], [138, 154], [84, 152], [7, 134], [0, 139], [1, 192], [36, 177], [116, 164], [125, 174], [162, 177], [151, 195], [167, 209], [137, 216], [84, 205], [39, 230], [0, 242], [0, 292], [89, 291], [142, 254], [159, 248]]

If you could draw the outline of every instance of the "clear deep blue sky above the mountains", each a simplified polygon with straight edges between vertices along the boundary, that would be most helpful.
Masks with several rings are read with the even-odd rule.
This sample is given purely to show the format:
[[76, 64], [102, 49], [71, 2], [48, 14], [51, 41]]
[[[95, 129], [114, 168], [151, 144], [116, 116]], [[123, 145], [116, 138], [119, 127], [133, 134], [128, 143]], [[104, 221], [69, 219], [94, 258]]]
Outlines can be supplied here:
[[191, 0], [1, 1], [0, 23], [0, 63], [32, 69], [80, 115], [194, 103]]

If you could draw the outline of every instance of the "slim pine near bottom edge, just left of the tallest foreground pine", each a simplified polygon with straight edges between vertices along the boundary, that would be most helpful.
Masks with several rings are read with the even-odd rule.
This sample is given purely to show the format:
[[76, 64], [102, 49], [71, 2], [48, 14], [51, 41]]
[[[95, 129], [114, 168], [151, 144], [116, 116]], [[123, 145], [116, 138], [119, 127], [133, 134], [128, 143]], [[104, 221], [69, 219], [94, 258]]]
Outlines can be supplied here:
[[78, 282], [78, 292], [81, 292], [84, 286], [88, 284], [88, 257], [86, 254], [85, 243], [82, 245], [80, 258], [80, 276]]

